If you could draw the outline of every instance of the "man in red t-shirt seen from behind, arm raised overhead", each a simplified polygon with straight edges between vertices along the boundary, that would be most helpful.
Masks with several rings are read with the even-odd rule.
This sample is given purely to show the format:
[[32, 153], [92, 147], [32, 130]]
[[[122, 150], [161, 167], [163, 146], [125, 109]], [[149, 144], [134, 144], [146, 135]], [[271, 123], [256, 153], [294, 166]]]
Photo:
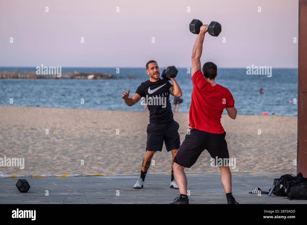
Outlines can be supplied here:
[[221, 171], [221, 181], [226, 193], [227, 204], [239, 204], [231, 193], [231, 172], [228, 167], [229, 153], [225, 140], [226, 132], [221, 124], [223, 110], [226, 108], [228, 116], [236, 118], [235, 101], [230, 91], [215, 83], [217, 67], [212, 62], [206, 62], [201, 72], [200, 56], [208, 25], [200, 28], [200, 32], [192, 50], [192, 101], [189, 111], [190, 131], [185, 136], [177, 155], [174, 158], [174, 176], [177, 181], [180, 197], [171, 204], [188, 204], [187, 178], [185, 167], [190, 168], [207, 149], [212, 159]]

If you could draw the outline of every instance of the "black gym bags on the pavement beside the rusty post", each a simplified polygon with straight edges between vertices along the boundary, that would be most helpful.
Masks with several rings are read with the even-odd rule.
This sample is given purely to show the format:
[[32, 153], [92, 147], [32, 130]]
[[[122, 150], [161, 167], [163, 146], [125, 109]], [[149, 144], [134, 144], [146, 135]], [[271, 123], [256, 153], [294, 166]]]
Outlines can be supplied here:
[[[278, 179], [274, 179], [272, 193], [277, 196], [288, 196], [292, 199], [307, 200], [307, 178], [300, 172], [296, 176], [284, 174]], [[269, 190], [271, 193], [271, 189]]]

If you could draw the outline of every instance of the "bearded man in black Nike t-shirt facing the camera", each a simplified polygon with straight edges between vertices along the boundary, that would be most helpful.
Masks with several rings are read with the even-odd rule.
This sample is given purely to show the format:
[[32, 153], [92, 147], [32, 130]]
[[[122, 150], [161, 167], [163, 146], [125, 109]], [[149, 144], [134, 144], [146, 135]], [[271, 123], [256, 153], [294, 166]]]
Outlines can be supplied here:
[[141, 177], [133, 188], [143, 188], [151, 159], [155, 152], [162, 151], [164, 141], [166, 150], [172, 153], [170, 188], [178, 189], [173, 173], [173, 159], [180, 147], [179, 124], [173, 118], [169, 94], [180, 97], [181, 88], [175, 78], [170, 78], [173, 85], [165, 79], [160, 79], [159, 66], [154, 60], [146, 63], [146, 73], [149, 75], [149, 80], [143, 82], [131, 98], [129, 98], [130, 90], [122, 95], [128, 106], [133, 106], [143, 97], [149, 110], [146, 153], [142, 162]]

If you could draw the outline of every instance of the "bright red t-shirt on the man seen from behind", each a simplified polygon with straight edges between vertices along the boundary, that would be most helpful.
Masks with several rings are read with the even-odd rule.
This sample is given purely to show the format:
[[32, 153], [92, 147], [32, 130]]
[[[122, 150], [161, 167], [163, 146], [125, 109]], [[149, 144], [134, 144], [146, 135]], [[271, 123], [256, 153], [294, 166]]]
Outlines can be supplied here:
[[189, 126], [209, 133], [224, 133], [221, 124], [223, 110], [235, 106], [230, 91], [220, 84], [212, 86], [200, 70], [192, 76], [192, 83]]

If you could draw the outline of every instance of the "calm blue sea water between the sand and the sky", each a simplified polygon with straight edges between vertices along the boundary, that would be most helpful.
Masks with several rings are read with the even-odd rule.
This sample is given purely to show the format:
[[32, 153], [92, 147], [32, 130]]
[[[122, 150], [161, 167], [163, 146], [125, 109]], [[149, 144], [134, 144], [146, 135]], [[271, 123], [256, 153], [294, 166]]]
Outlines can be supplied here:
[[[160, 71], [165, 68], [160, 68]], [[0, 71], [15, 71], [15, 68], [0, 67]], [[86, 108], [102, 110], [143, 111], [139, 103], [128, 107], [121, 99], [122, 93], [130, 89], [132, 96], [141, 82], [149, 79], [143, 68], [62, 68], [62, 73], [105, 73], [114, 74], [116, 80], [71, 80], [71, 79], [0, 79], [0, 105]], [[183, 103], [179, 112], [188, 112], [191, 103], [192, 81], [186, 68], [179, 68], [177, 82], [183, 92]], [[35, 72], [35, 68], [17, 68], [18, 72]], [[136, 79], [128, 79], [134, 76]], [[246, 69], [218, 69], [216, 83], [227, 87], [234, 99], [238, 114], [260, 115], [267, 111], [270, 115], [297, 116], [297, 104], [289, 100], [297, 99], [297, 69], [274, 69], [272, 77], [247, 75]], [[259, 94], [259, 88], [263, 94]], [[84, 99], [84, 105], [80, 99]], [[226, 112], [226, 111], [224, 111]]]

